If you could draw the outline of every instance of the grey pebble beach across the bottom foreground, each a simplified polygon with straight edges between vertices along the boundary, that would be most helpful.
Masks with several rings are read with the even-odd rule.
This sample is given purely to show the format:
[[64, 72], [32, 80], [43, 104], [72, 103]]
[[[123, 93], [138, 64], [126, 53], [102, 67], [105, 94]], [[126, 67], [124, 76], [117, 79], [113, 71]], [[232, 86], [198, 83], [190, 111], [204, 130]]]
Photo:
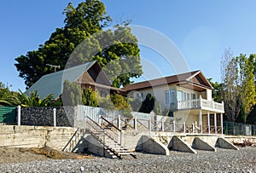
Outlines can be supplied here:
[[0, 164], [0, 172], [256, 172], [256, 147], [239, 151], [171, 152], [169, 156], [137, 153], [138, 159], [66, 159]]

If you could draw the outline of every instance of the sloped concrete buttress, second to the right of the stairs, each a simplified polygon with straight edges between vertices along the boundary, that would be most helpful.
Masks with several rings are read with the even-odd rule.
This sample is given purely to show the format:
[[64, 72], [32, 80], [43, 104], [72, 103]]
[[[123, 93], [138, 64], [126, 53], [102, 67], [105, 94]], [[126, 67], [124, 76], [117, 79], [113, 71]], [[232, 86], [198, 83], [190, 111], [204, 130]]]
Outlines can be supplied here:
[[186, 142], [184, 142], [177, 136], [172, 137], [168, 148], [179, 152], [196, 153], [192, 147], [190, 147]]

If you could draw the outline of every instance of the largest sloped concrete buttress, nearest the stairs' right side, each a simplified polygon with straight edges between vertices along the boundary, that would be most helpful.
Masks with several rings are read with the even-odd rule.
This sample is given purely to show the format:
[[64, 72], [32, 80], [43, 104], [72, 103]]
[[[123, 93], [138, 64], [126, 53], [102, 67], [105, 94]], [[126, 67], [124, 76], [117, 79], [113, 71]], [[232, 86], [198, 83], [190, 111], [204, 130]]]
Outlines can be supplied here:
[[137, 142], [136, 150], [145, 153], [169, 155], [169, 149], [164, 144], [155, 141], [150, 136], [142, 136]]

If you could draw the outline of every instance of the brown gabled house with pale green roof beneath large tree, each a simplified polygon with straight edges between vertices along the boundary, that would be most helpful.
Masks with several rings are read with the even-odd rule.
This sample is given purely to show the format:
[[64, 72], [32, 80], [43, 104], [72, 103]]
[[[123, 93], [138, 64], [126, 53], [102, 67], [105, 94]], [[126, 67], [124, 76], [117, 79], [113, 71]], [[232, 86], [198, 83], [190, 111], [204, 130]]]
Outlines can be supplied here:
[[97, 90], [100, 95], [113, 91], [119, 94], [124, 92], [122, 89], [111, 87], [108, 76], [103, 72], [98, 62], [90, 61], [80, 66], [73, 66], [59, 72], [44, 75], [32, 87], [27, 89], [25, 94], [30, 95], [31, 92], [37, 90], [41, 99], [50, 94], [55, 95], [55, 99], [58, 99], [62, 94], [65, 80], [80, 84], [82, 89]]

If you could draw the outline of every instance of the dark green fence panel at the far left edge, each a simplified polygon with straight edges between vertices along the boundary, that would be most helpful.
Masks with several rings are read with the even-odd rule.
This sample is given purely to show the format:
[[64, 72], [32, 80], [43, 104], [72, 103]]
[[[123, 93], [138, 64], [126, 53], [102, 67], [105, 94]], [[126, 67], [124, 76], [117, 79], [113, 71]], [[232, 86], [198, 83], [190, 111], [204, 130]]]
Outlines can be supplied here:
[[16, 107], [0, 107], [0, 123], [13, 124], [16, 118]]

